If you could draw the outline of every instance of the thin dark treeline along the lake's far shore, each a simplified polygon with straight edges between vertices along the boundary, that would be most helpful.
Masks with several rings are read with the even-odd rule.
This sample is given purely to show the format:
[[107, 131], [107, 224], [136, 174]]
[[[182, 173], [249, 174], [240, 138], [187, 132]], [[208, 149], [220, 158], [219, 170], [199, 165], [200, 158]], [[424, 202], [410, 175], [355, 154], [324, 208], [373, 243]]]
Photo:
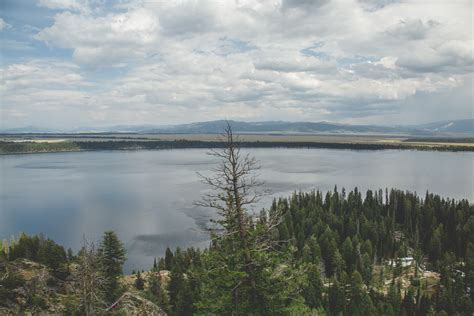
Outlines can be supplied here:
[[[352, 150], [386, 150], [412, 149], [429, 151], [473, 151], [469, 145], [413, 145], [406, 143], [328, 143], [328, 142], [241, 142], [245, 148], [324, 148], [324, 149], [352, 149]], [[0, 154], [62, 152], [62, 151], [93, 151], [93, 150], [158, 150], [158, 149], [185, 149], [185, 148], [222, 148], [217, 141], [198, 140], [68, 140], [63, 142], [11, 142], [0, 141]]]

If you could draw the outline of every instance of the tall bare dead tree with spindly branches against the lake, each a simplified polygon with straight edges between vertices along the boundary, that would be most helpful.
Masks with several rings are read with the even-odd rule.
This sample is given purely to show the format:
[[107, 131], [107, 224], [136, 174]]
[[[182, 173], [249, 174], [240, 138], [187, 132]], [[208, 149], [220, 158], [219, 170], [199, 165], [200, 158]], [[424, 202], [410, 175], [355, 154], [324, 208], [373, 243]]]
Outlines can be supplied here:
[[[217, 210], [220, 215], [216, 229], [212, 231], [212, 240], [219, 244], [227, 242], [231, 248], [242, 256], [244, 270], [247, 275], [246, 282], [251, 291], [252, 306], [258, 306], [259, 295], [256, 278], [257, 260], [254, 259], [256, 251], [268, 249], [269, 238], [255, 238], [255, 221], [250, 212], [255, 203], [268, 192], [259, 188], [263, 184], [258, 180], [256, 171], [260, 169], [257, 160], [249, 154], [243, 154], [240, 150], [238, 138], [233, 135], [229, 124], [225, 133], [221, 136], [223, 148], [212, 150], [208, 154], [219, 159], [219, 165], [214, 169], [213, 176], [198, 174], [203, 183], [211, 187], [212, 192], [207, 193], [201, 201], [196, 204]], [[265, 221], [265, 229], [274, 228], [280, 220], [277, 214]], [[265, 236], [265, 234], [261, 234]], [[232, 251], [232, 250], [231, 250]], [[237, 284], [234, 291], [238, 293], [240, 286]], [[235, 294], [238, 300], [238, 294]], [[237, 302], [236, 302], [237, 303]]]

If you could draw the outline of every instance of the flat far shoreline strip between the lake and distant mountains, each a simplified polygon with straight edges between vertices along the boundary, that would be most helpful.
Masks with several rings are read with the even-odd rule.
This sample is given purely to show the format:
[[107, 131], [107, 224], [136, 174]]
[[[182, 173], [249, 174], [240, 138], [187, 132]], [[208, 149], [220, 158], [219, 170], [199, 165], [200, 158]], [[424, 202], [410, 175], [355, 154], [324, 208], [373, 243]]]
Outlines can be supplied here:
[[[0, 155], [83, 151], [220, 148], [217, 134], [0, 134]], [[242, 148], [473, 152], [474, 137], [241, 134]]]

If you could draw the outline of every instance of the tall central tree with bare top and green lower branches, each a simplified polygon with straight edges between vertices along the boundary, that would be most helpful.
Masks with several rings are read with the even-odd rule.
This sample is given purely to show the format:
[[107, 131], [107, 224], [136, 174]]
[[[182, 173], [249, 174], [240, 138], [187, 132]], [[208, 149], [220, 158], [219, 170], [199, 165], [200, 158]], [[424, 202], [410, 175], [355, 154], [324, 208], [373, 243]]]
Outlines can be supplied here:
[[255, 158], [241, 153], [230, 125], [223, 138], [223, 150], [211, 152], [220, 159], [215, 176], [200, 175], [214, 191], [197, 204], [221, 216], [211, 235], [200, 313], [278, 314], [296, 290], [283, 279], [297, 270], [290, 265], [282, 269], [285, 256], [273, 251], [281, 245], [271, 238], [281, 214], [273, 210], [254, 220], [248, 211], [262, 197], [254, 173], [259, 167]]

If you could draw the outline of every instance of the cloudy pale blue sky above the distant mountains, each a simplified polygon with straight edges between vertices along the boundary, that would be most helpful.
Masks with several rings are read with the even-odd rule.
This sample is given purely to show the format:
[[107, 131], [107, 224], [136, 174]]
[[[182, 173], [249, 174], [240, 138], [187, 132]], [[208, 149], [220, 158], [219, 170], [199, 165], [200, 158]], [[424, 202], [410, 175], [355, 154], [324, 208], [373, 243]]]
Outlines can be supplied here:
[[1, 128], [474, 117], [471, 0], [1, 0]]

